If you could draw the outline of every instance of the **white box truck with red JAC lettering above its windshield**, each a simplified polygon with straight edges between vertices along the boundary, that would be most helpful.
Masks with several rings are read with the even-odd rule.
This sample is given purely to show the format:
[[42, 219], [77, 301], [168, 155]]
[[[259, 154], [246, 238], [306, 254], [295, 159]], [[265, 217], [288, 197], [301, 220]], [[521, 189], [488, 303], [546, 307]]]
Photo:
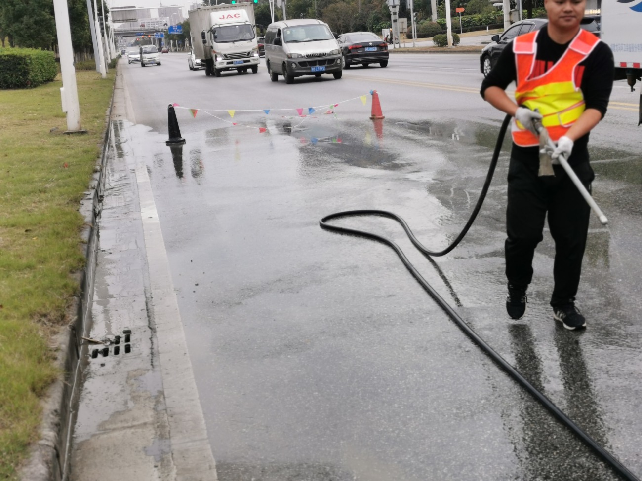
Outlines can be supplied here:
[[259, 70], [259, 46], [253, 4], [202, 6], [189, 10], [194, 55], [205, 65], [205, 75]]

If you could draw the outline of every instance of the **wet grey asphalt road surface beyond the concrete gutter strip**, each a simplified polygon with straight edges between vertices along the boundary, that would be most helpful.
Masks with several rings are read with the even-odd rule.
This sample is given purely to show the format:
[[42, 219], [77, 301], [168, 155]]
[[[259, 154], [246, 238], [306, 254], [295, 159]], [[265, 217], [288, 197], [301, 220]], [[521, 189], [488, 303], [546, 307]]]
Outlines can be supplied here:
[[[478, 56], [397, 55], [386, 69], [294, 85], [271, 83], [263, 64], [207, 78], [180, 54], [123, 66], [221, 481], [619, 479], [392, 250], [318, 227], [331, 212], [380, 208], [428, 248], [454, 239], [502, 120], [477, 93]], [[508, 142], [478, 220], [437, 267], [392, 221], [337, 223], [398, 242], [490, 346], [641, 475], [642, 142], [627, 90], [619, 83], [593, 135], [594, 197], [610, 226], [591, 221], [578, 296], [586, 332], [552, 319], [548, 234], [525, 318], [505, 314]], [[171, 151], [174, 102], [186, 144]]]

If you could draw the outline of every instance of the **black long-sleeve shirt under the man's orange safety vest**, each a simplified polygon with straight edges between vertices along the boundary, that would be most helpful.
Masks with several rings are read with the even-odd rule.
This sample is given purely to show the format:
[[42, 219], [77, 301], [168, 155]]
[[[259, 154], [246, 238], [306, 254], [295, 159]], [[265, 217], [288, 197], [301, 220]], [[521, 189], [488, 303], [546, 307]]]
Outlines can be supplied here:
[[[535, 69], [538, 74], [544, 74], [557, 62], [571, 42], [558, 44], [548, 36], [546, 26], [542, 27], [537, 35], [537, 53], [535, 54]], [[582, 76], [580, 89], [586, 102], [586, 108], [594, 108], [606, 114], [609, 105], [609, 97], [613, 88], [614, 63], [613, 53], [607, 44], [599, 42], [589, 55], [579, 64], [578, 74]], [[492, 67], [492, 70], [482, 82], [480, 93], [482, 97], [489, 87], [506, 89], [511, 82], [517, 80], [517, 67], [515, 54], [513, 53], [513, 42], [510, 42]], [[575, 165], [588, 159], [587, 145], [589, 134], [587, 133], [575, 141], [573, 153], [568, 159], [569, 164]], [[539, 156], [537, 147], [520, 147], [513, 144], [514, 153], [523, 153], [527, 156]]]

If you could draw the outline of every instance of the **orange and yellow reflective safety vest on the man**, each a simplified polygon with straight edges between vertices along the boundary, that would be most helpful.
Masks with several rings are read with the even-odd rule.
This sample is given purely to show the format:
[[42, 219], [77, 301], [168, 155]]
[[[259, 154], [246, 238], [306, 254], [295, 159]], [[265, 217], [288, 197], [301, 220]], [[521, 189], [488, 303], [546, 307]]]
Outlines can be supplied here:
[[[544, 74], [535, 76], [535, 39], [539, 32], [520, 35], [513, 41], [517, 69], [515, 99], [519, 106], [537, 109], [544, 117], [542, 125], [550, 138], [557, 141], [584, 112], [581, 78], [576, 78], [577, 65], [593, 51], [600, 39], [580, 29], [557, 63]], [[539, 146], [539, 138], [516, 119], [512, 121], [511, 131], [518, 146]]]

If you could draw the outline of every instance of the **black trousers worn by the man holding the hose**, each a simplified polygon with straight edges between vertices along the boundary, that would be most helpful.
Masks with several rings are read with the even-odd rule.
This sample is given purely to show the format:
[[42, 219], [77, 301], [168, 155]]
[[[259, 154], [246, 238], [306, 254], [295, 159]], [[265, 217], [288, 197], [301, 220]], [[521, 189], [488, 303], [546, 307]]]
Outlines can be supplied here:
[[[555, 177], [539, 177], [539, 159], [511, 156], [508, 166], [508, 205], [505, 243], [506, 276], [514, 287], [526, 289], [533, 278], [535, 247], [543, 239], [544, 219], [555, 241], [551, 306], [575, 301], [580, 283], [591, 208], [560, 165]], [[573, 167], [590, 192], [593, 169], [589, 162]]]

